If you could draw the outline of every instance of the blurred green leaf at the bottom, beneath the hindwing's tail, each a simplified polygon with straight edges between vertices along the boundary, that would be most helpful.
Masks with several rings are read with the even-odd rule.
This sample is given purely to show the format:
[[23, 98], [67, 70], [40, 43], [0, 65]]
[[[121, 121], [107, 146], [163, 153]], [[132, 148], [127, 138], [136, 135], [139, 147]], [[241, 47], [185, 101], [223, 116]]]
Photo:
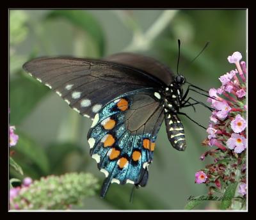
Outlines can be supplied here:
[[116, 209], [170, 209], [157, 196], [146, 192], [143, 189], [134, 189], [132, 203], [129, 201], [132, 185], [112, 184], [104, 201], [113, 205]]

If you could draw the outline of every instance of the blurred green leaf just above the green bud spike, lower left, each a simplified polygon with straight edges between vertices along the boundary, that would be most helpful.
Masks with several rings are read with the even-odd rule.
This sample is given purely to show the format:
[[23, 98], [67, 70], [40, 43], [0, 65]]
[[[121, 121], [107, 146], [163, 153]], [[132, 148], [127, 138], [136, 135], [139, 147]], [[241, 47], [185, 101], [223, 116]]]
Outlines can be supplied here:
[[17, 130], [17, 134], [19, 135], [19, 141], [15, 147], [17, 156], [22, 156], [22, 159], [29, 159], [29, 162], [38, 166], [44, 174], [49, 173], [49, 161], [44, 148], [20, 130]]

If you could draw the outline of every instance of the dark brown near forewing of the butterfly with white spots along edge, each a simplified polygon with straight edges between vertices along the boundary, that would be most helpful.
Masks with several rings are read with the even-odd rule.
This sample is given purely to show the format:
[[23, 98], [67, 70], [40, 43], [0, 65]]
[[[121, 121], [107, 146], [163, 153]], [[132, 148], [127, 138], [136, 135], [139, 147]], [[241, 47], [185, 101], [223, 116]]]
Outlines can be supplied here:
[[23, 68], [88, 118], [119, 95], [162, 84], [143, 70], [95, 59], [38, 58]]

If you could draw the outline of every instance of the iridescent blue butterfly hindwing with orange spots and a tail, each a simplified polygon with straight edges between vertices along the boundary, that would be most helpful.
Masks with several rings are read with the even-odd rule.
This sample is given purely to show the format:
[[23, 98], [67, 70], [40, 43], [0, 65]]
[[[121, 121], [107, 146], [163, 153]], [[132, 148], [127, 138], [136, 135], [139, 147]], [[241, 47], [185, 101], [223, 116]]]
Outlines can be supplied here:
[[95, 115], [88, 142], [92, 158], [106, 175], [102, 197], [114, 182], [147, 184], [148, 164], [163, 118], [163, 106], [153, 88], [125, 93]]

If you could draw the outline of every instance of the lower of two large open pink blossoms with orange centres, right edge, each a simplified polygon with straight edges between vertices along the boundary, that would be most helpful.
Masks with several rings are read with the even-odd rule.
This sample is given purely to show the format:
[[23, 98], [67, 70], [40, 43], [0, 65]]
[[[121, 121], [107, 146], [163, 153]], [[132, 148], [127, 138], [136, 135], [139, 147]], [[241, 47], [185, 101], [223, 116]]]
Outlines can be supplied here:
[[231, 134], [231, 138], [227, 141], [227, 146], [230, 150], [234, 149], [235, 153], [241, 153], [246, 148], [246, 138], [243, 136], [233, 133]]

